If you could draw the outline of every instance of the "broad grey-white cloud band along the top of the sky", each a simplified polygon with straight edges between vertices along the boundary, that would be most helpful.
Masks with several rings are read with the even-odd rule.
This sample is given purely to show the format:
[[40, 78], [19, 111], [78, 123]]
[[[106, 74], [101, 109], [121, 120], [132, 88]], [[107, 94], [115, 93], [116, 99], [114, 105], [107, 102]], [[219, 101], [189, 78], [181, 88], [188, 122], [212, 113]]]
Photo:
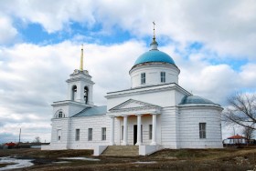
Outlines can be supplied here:
[[[48, 33], [68, 30], [73, 22], [86, 28], [114, 26], [134, 36], [152, 35], [152, 21], [158, 37], [171, 38], [181, 45], [202, 42], [219, 55], [255, 60], [256, 2], [247, 1], [4, 1], [3, 13], [24, 23], [38, 23]], [[72, 30], [70, 30], [72, 31]]]

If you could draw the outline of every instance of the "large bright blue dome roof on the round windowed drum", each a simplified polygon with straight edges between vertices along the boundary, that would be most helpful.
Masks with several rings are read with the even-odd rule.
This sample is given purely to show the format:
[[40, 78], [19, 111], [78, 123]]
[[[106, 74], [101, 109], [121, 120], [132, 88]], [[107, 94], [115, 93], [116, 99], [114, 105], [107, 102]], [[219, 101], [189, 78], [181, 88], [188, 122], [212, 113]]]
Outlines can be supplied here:
[[152, 63], [152, 62], [162, 62], [175, 65], [175, 61], [170, 55], [165, 54], [157, 49], [150, 50], [143, 55], [140, 55], [134, 65], [139, 65], [143, 63]]

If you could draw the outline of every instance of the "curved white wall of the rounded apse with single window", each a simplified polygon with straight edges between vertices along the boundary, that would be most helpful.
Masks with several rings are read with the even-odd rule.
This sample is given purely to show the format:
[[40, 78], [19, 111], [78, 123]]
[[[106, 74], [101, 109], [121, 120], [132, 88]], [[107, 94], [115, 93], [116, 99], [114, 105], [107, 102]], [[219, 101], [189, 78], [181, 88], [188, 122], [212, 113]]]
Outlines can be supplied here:
[[[182, 107], [179, 113], [180, 148], [222, 147], [219, 107]], [[199, 138], [199, 123], [206, 123], [206, 138]]]

